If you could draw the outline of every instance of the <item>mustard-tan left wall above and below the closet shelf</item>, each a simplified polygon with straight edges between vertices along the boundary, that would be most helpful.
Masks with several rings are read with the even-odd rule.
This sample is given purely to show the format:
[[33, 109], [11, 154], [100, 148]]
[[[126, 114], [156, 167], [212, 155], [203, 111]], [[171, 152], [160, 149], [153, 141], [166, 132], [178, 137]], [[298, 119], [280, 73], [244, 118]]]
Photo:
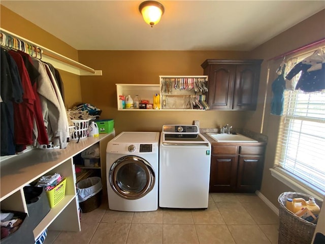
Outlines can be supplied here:
[[[43, 47], [78, 61], [78, 51], [54, 37], [44, 29], [22, 18], [8, 8], [0, 5], [0, 27], [18, 36], [26, 38]], [[66, 107], [70, 108], [81, 102], [81, 87], [78, 75], [60, 71], [64, 84], [64, 97]]]

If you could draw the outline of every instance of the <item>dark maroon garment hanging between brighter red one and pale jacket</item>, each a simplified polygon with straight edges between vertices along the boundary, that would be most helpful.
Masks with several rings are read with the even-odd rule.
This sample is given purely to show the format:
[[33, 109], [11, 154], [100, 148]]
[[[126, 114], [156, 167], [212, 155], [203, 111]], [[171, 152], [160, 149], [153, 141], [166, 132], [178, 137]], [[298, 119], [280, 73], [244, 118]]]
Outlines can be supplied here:
[[34, 103], [34, 112], [35, 112], [35, 118], [34, 118], [34, 127], [33, 127], [33, 143], [32, 145], [36, 146], [37, 143], [39, 144], [49, 144], [49, 139], [47, 135], [46, 128], [44, 126], [44, 119], [42, 114], [42, 108], [41, 108], [41, 101], [40, 97], [37, 93], [37, 78], [40, 76], [40, 73], [37, 71], [37, 69], [32, 64], [31, 57], [24, 52], [18, 51], [18, 53], [22, 56], [24, 60], [25, 67], [28, 71], [30, 82], [32, 84], [32, 89], [36, 98], [36, 101]]

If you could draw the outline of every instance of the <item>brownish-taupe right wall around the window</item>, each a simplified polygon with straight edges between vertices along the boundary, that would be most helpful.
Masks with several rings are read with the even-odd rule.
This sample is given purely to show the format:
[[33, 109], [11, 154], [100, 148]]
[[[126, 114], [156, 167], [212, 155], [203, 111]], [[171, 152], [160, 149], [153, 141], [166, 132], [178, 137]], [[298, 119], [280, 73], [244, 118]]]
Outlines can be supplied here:
[[[265, 61], [261, 70], [261, 81], [259, 84], [258, 107], [254, 112], [247, 113], [245, 128], [249, 130], [258, 130], [263, 123], [263, 134], [268, 136], [268, 146], [266, 151], [266, 160], [263, 174], [263, 182], [261, 192], [275, 206], [278, 206], [277, 198], [285, 191], [291, 191], [287, 186], [275, 179], [270, 168], [273, 167], [276, 140], [279, 129], [280, 116], [271, 115], [272, 101], [272, 81], [276, 78], [276, 74], [270, 74], [269, 84], [267, 84], [267, 60], [282, 53], [295, 50], [301, 46], [320, 40], [325, 37], [325, 10], [311, 16], [301, 23], [289, 28], [270, 41], [257, 47], [251, 52], [252, 58], [263, 58]], [[267, 89], [267, 104], [265, 111], [265, 119], [262, 121], [263, 100]]]

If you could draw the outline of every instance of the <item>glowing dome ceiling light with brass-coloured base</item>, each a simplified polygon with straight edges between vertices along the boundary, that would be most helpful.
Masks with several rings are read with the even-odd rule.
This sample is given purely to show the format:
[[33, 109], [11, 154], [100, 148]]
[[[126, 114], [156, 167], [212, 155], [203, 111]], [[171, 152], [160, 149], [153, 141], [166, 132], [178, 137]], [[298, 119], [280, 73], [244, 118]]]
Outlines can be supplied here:
[[152, 27], [160, 21], [165, 8], [162, 4], [156, 1], [145, 1], [139, 5], [139, 11], [143, 16], [144, 21]]

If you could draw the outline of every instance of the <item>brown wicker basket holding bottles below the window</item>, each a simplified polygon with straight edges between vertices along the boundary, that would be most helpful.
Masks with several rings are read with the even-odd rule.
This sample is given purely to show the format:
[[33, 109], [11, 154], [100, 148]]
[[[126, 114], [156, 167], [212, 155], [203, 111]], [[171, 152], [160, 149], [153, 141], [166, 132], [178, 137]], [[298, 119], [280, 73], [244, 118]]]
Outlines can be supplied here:
[[[314, 235], [316, 224], [308, 222], [286, 208], [287, 198], [304, 198], [306, 201], [309, 195], [297, 192], [284, 192], [278, 197], [279, 208], [279, 244], [310, 244]], [[316, 204], [321, 207], [322, 201], [315, 198]]]

